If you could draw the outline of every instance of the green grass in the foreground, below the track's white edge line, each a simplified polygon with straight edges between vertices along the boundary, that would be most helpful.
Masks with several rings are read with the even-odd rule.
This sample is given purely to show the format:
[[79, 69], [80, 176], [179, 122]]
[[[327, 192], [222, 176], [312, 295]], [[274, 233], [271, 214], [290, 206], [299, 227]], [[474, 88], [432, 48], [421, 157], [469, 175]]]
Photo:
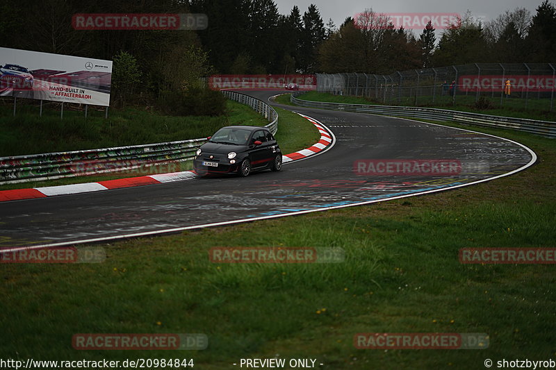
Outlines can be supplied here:
[[[453, 125], [461, 127], [458, 125]], [[551, 247], [556, 142], [471, 187], [177, 235], [100, 244], [101, 264], [4, 264], [0, 358], [316, 358], [322, 369], [484, 369], [554, 358], [554, 265], [460, 264], [464, 247]], [[336, 264], [215, 264], [213, 246], [324, 246]], [[485, 350], [359, 350], [356, 333], [487, 333]], [[204, 333], [204, 351], [75, 351], [75, 333]]]

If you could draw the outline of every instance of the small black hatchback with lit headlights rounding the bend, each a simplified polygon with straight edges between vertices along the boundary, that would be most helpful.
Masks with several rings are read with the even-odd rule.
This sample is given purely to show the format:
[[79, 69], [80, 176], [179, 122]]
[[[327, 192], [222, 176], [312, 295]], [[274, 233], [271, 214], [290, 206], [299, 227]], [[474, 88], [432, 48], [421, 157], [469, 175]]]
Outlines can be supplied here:
[[268, 128], [260, 126], [222, 127], [197, 150], [195, 172], [248, 176], [252, 171], [280, 171], [282, 153]]

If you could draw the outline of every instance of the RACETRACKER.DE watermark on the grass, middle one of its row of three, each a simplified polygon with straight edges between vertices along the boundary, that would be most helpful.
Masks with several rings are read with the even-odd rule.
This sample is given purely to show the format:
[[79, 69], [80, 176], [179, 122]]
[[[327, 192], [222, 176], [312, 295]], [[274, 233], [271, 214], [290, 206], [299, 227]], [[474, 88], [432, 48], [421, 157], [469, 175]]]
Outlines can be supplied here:
[[345, 260], [342, 248], [215, 246], [208, 250], [213, 263], [339, 263]]

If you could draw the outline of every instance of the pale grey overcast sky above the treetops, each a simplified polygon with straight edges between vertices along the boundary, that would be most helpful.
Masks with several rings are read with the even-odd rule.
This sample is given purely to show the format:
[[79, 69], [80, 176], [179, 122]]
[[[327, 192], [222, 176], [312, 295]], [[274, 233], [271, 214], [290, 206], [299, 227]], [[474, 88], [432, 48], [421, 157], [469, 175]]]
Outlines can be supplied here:
[[[289, 14], [294, 5], [297, 5], [303, 14], [309, 5], [314, 3], [320, 10], [320, 16], [325, 24], [329, 18], [332, 18], [336, 27], [342, 24], [346, 17], [353, 17], [366, 8], [372, 8], [377, 13], [444, 12], [461, 15], [466, 10], [471, 10], [475, 17], [488, 21], [498, 17], [505, 10], [514, 10], [518, 7], [527, 8], [534, 15], [541, 2], [542, 0], [275, 0], [279, 12], [284, 15]], [[418, 36], [420, 31], [422, 30], [414, 33]]]

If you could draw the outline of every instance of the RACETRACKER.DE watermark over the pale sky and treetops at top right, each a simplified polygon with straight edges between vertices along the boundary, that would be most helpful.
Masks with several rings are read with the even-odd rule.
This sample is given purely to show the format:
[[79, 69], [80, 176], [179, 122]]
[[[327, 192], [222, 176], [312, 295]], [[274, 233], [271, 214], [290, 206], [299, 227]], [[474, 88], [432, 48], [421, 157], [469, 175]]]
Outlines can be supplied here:
[[360, 12], [354, 15], [354, 24], [360, 29], [413, 29], [423, 30], [429, 22], [436, 30], [459, 28], [461, 15], [443, 12]]

